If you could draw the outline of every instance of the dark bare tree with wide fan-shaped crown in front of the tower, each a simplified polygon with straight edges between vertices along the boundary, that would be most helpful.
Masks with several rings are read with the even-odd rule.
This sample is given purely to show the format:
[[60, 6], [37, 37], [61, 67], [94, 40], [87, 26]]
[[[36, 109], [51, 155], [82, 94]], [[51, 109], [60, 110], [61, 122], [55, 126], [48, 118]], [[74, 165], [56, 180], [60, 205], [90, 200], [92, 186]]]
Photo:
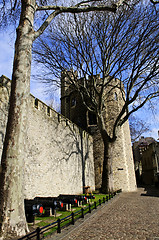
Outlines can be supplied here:
[[[115, 15], [75, 14], [69, 16], [67, 24], [60, 19], [56, 26], [46, 34], [47, 41], [37, 42], [35, 59], [47, 69], [43, 81], [59, 84], [57, 79], [65, 72], [87, 110], [96, 114], [104, 143], [102, 191], [106, 192], [110, 143], [131, 114], [159, 96], [157, 13], [151, 4], [139, 3], [119, 9]], [[104, 109], [115, 91], [120, 92], [123, 105], [108, 130]]]

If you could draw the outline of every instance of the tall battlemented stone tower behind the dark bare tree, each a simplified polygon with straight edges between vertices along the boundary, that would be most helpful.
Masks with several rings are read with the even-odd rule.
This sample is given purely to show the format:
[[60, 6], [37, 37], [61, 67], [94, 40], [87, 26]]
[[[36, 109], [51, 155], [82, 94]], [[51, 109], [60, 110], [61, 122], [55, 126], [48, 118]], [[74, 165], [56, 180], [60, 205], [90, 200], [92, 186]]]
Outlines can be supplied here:
[[[72, 76], [71, 76], [72, 74]], [[101, 187], [102, 171], [103, 171], [103, 152], [104, 146], [100, 131], [97, 127], [97, 121], [94, 114], [88, 112], [82, 104], [82, 99], [75, 88], [70, 84], [69, 77], [73, 76], [73, 72], [62, 73], [61, 76], [61, 113], [76, 123], [81, 128], [88, 131], [93, 136], [93, 154], [95, 169], [95, 185], [96, 189]], [[99, 76], [97, 76], [99, 78]], [[82, 82], [82, 79], [78, 81]], [[113, 80], [114, 86], [121, 84], [118, 79]], [[111, 89], [112, 81], [111, 81]], [[109, 86], [105, 90], [107, 94], [105, 98], [105, 124], [108, 132], [111, 132], [113, 123], [117, 113], [123, 106], [123, 95], [118, 88], [110, 91]], [[110, 158], [112, 159], [113, 171], [113, 188], [117, 190], [122, 188], [123, 191], [136, 190], [136, 179], [134, 172], [134, 161], [131, 147], [129, 122], [125, 122], [118, 129], [117, 139], [110, 144]]]

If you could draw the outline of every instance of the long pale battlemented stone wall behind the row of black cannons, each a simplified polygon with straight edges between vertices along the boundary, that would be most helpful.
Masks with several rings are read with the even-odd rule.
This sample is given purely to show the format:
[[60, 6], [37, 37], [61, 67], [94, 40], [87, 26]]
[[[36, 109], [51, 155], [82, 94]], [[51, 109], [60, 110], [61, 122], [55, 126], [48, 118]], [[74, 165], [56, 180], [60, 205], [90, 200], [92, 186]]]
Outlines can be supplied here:
[[[32, 95], [29, 101], [25, 198], [79, 194], [83, 185], [94, 190], [92, 137]], [[1, 118], [1, 125], [5, 119]], [[4, 126], [1, 131], [4, 135]]]

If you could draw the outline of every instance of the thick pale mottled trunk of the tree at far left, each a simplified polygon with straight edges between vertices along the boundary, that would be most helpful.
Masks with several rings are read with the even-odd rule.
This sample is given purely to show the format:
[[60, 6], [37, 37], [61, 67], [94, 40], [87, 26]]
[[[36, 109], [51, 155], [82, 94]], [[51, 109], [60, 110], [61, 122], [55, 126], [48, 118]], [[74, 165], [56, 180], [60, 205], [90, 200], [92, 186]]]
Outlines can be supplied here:
[[23, 195], [23, 167], [30, 95], [31, 49], [35, 1], [22, 1], [11, 84], [6, 136], [2, 153], [0, 185], [0, 239], [28, 231]]

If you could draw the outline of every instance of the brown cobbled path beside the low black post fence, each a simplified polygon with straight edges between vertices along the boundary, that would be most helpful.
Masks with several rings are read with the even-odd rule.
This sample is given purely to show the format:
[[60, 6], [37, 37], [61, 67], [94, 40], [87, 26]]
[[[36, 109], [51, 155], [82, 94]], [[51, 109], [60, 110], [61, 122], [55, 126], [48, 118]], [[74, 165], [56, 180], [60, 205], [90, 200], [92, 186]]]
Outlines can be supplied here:
[[159, 191], [139, 188], [121, 193], [83, 223], [76, 222], [51, 239], [159, 240]]

